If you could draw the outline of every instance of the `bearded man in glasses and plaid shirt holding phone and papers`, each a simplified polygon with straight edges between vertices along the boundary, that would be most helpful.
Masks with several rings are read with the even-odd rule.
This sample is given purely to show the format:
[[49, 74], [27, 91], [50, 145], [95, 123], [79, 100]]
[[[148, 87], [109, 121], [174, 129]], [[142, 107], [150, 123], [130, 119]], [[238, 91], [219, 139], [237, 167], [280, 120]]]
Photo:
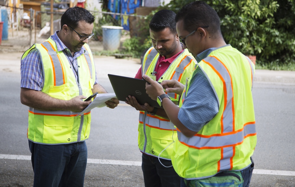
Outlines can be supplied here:
[[[91, 112], [77, 116], [98, 84], [88, 40], [94, 16], [72, 7], [61, 17], [61, 29], [34, 44], [21, 60], [21, 102], [29, 106], [27, 138], [35, 186], [83, 186]], [[117, 99], [107, 101], [114, 108]]]

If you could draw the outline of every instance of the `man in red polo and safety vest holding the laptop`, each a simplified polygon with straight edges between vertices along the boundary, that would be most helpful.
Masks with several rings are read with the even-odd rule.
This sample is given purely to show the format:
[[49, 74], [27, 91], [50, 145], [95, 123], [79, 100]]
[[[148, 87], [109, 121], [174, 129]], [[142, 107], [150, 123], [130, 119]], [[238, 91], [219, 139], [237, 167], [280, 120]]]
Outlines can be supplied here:
[[[142, 79], [142, 75], [148, 75], [158, 82], [174, 79], [185, 84], [193, 72], [196, 62], [179, 41], [175, 16], [173, 11], [160, 10], [151, 19], [149, 27], [153, 47], [146, 52], [135, 78]], [[178, 94], [170, 93], [169, 97], [179, 101]], [[126, 99], [126, 103], [140, 111], [138, 146], [142, 152], [145, 186], [180, 186], [181, 178], [171, 163], [171, 144], [177, 137], [176, 128], [163, 109], [148, 103], [140, 105], [132, 96]]]

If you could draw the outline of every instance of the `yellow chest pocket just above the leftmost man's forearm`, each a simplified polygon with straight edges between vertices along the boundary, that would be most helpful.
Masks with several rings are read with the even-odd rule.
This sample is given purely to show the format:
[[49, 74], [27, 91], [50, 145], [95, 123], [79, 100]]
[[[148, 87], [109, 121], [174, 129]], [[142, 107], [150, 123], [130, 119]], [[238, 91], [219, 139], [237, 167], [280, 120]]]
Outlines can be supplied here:
[[51, 97], [57, 98], [57, 99], [63, 99], [63, 100], [70, 100], [71, 96], [70, 94], [70, 85], [68, 83], [65, 83], [60, 86], [49, 86], [49, 93]]

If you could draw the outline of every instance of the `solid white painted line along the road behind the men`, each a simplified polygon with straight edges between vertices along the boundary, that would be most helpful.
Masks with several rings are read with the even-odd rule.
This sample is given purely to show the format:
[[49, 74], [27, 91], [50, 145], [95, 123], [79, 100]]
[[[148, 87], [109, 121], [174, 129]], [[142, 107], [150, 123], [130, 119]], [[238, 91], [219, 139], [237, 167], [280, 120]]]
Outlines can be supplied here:
[[[31, 156], [27, 156], [27, 155], [6, 155], [6, 154], [0, 154], [0, 159], [31, 160]], [[101, 160], [101, 159], [90, 159], [90, 158], [87, 159], [87, 163], [124, 165], [124, 166], [141, 166], [141, 162], [137, 162], [137, 161]], [[253, 174], [295, 176], [295, 171], [254, 169], [253, 170]]]

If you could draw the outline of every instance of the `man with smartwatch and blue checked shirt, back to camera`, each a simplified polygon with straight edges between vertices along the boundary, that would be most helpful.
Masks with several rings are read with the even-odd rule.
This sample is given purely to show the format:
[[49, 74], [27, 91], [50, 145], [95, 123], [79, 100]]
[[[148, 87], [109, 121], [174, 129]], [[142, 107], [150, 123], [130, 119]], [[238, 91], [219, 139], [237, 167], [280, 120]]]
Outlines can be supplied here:
[[[203, 1], [176, 16], [180, 40], [198, 64], [185, 86], [143, 76], [149, 96], [177, 128], [172, 164], [186, 186], [249, 186], [256, 146], [254, 64], [227, 45], [220, 19]], [[179, 107], [165, 94], [181, 94]]]

